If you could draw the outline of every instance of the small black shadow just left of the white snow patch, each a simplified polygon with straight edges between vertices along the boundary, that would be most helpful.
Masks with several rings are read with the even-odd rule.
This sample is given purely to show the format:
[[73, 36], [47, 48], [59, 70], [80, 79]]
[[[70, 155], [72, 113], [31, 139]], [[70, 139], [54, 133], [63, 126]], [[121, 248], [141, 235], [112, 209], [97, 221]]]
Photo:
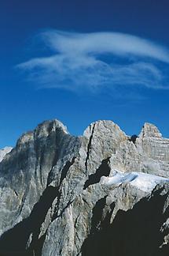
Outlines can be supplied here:
[[110, 174], [111, 168], [108, 166], [109, 159], [110, 157], [102, 160], [101, 165], [99, 168], [97, 168], [97, 171], [89, 176], [89, 179], [87, 179], [86, 183], [84, 184], [84, 190], [86, 190], [86, 188], [92, 184], [99, 183], [101, 176], [108, 176]]

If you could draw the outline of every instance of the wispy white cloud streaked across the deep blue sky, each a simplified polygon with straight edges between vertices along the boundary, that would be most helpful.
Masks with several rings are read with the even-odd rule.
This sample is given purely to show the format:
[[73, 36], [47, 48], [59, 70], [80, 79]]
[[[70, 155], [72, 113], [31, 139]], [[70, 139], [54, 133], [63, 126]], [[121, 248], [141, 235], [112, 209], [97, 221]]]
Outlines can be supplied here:
[[117, 32], [76, 33], [57, 30], [39, 35], [53, 55], [18, 65], [42, 88], [98, 92], [141, 86], [167, 89], [169, 51], [150, 40]]

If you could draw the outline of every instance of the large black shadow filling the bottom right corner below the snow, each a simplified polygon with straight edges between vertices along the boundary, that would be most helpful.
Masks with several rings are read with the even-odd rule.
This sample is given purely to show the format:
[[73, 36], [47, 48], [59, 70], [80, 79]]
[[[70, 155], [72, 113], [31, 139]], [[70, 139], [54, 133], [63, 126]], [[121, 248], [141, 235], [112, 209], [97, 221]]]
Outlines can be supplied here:
[[168, 245], [160, 249], [164, 236], [160, 228], [169, 216], [168, 209], [163, 213], [166, 200], [167, 194], [156, 191], [152, 198], [142, 198], [133, 209], [119, 210], [112, 224], [112, 213], [108, 213], [99, 228], [91, 227], [82, 256], [168, 256]]

